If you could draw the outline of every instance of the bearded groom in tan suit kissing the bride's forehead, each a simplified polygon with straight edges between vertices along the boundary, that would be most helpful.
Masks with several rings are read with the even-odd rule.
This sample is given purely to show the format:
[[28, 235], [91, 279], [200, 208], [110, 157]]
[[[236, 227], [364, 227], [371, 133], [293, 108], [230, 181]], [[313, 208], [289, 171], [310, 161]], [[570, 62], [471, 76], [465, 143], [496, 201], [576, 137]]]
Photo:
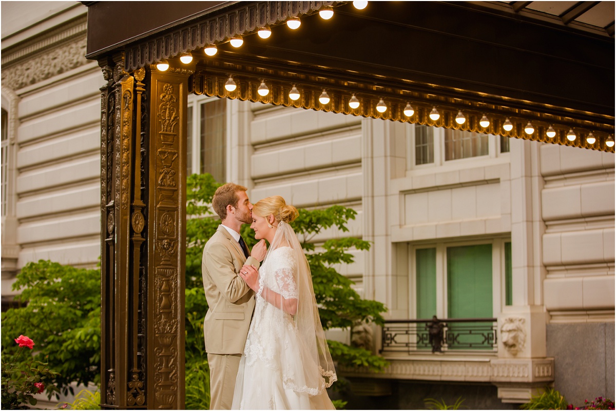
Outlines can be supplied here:
[[[251, 256], [240, 236], [241, 225], [253, 221], [253, 205], [246, 190], [244, 186], [227, 183], [214, 193], [212, 207], [221, 218], [221, 225], [205, 244], [201, 260], [209, 306], [203, 334], [208, 353], [211, 410], [231, 409], [235, 378], [253, 315], [254, 292], [238, 273], [244, 264], [259, 268], [265, 258], [264, 241], [253, 247]], [[251, 269], [248, 276], [249, 281], [254, 281], [252, 277], [257, 276], [257, 271]]]

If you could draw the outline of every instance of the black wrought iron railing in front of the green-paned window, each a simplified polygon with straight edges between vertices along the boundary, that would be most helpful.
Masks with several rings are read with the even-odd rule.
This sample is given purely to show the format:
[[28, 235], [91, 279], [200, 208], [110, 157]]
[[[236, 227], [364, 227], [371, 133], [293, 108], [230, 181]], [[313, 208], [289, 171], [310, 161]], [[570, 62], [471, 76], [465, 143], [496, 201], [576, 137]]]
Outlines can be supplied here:
[[386, 320], [381, 353], [496, 351], [495, 318]]

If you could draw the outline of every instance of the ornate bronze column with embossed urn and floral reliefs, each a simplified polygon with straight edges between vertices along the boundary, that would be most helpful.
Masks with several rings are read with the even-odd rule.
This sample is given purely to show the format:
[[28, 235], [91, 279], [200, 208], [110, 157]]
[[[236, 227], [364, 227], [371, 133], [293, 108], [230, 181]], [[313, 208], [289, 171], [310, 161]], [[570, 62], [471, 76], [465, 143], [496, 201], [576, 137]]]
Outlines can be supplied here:
[[187, 81], [190, 71], [99, 62], [101, 401], [184, 408]]

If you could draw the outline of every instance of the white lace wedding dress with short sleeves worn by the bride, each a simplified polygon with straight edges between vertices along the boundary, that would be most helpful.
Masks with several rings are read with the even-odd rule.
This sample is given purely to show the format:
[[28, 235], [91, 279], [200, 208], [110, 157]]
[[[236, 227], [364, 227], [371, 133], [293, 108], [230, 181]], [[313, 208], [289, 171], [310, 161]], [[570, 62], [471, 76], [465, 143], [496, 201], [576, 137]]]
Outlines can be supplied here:
[[[261, 289], [267, 287], [286, 299], [298, 298], [297, 264], [291, 247], [272, 250], [259, 269]], [[334, 409], [323, 369], [299, 337], [294, 317], [260, 295], [255, 298], [232, 409]]]

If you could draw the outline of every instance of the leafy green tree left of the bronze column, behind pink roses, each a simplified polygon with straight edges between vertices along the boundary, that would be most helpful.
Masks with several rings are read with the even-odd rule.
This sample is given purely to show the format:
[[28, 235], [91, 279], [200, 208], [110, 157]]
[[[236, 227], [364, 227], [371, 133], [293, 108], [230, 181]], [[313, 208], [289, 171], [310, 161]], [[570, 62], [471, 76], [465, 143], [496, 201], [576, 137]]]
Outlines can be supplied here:
[[40, 260], [22, 268], [13, 289], [24, 306], [2, 313], [2, 356], [17, 350], [13, 338], [28, 335], [34, 359], [59, 373], [53, 383], [64, 393], [72, 381], [99, 383], [100, 270]]

